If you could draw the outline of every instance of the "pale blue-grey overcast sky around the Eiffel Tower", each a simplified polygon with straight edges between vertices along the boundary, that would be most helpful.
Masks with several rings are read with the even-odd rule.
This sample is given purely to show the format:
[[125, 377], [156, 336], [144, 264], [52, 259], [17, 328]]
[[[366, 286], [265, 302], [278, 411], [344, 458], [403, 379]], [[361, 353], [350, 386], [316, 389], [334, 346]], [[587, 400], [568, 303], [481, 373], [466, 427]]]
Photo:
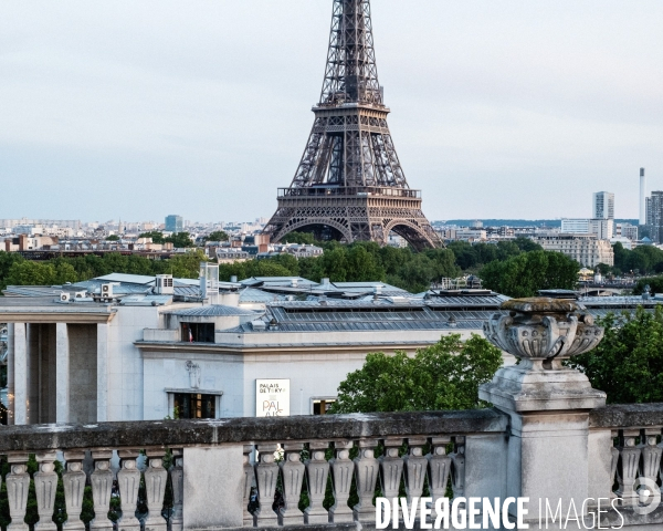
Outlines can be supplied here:
[[[332, 0], [0, 2], [0, 218], [270, 217], [313, 124]], [[373, 0], [431, 220], [590, 216], [663, 189], [661, 0]]]

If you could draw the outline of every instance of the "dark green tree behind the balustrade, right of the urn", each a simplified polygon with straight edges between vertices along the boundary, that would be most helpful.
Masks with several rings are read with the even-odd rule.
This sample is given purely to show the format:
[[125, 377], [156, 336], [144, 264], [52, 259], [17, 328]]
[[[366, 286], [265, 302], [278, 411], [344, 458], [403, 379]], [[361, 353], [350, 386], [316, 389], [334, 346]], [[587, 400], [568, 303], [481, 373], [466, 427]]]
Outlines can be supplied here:
[[653, 313], [609, 313], [598, 323], [606, 336], [569, 365], [583, 372], [591, 385], [613, 404], [663, 402], [663, 306]]

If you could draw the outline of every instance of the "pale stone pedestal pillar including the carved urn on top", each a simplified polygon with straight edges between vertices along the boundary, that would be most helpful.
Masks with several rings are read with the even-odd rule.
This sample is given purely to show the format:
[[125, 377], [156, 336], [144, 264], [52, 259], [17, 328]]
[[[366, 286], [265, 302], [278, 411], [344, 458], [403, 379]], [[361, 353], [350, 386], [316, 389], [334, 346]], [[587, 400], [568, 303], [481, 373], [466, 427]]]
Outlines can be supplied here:
[[509, 314], [495, 314], [484, 333], [520, 363], [501, 368], [480, 398], [511, 416], [506, 493], [529, 498], [525, 522], [538, 529], [546, 499], [581, 514], [589, 497], [589, 412], [606, 394], [561, 361], [593, 348], [603, 330], [572, 300], [514, 299], [502, 309]]

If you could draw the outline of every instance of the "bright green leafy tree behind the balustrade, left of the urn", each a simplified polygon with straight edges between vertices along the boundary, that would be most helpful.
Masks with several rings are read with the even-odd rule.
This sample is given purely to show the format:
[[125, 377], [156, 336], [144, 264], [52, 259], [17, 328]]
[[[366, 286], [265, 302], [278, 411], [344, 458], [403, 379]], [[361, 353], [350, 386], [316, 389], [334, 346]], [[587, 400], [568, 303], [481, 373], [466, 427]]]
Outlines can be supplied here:
[[478, 386], [502, 365], [502, 353], [473, 334], [442, 336], [413, 357], [404, 352], [369, 354], [338, 387], [333, 413], [417, 412], [482, 407]]

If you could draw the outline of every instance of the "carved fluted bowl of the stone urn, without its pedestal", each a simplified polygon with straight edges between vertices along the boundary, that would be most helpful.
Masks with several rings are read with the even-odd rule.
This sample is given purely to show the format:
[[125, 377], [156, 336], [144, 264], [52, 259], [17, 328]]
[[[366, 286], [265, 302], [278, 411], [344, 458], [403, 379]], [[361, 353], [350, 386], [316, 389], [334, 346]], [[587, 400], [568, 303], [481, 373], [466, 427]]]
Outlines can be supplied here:
[[484, 323], [484, 334], [495, 346], [519, 358], [564, 360], [592, 350], [603, 339], [585, 306], [571, 300], [512, 299]]

